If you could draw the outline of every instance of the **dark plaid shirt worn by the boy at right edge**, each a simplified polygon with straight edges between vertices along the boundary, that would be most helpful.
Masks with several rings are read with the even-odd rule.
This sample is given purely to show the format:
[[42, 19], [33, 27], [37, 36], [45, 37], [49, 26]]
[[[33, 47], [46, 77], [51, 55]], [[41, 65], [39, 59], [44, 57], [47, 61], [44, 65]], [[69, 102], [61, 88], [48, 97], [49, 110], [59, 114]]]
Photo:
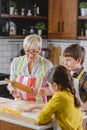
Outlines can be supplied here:
[[[81, 75], [81, 72], [84, 71], [84, 73]], [[87, 72], [84, 70], [84, 67], [82, 67], [78, 72], [75, 72], [73, 74], [73, 77], [78, 79], [78, 76], [80, 76], [79, 79], [79, 94], [83, 102], [87, 101]]]

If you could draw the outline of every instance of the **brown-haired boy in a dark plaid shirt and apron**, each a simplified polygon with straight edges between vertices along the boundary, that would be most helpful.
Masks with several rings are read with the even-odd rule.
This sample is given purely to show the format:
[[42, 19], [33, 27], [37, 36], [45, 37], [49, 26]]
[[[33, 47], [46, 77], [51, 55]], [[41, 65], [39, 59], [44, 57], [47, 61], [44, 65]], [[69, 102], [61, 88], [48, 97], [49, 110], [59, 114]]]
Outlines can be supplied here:
[[83, 67], [85, 53], [85, 49], [79, 44], [68, 46], [63, 53], [65, 67], [79, 80], [79, 95], [83, 103], [87, 101], [87, 72]]

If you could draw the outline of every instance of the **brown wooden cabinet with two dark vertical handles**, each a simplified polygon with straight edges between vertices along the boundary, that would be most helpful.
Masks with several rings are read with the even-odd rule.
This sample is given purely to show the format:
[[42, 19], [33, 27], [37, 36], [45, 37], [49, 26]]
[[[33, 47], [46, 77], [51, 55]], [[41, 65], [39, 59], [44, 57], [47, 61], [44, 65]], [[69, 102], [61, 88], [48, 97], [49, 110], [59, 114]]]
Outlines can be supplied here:
[[49, 0], [48, 38], [76, 39], [77, 3], [78, 0]]

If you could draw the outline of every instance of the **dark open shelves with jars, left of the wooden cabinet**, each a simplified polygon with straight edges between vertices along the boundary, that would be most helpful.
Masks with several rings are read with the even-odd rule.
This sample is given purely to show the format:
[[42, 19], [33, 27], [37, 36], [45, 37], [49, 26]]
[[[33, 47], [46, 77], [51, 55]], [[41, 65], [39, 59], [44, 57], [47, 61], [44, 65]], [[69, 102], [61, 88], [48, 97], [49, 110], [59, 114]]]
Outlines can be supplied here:
[[[10, 12], [10, 3], [15, 3]], [[46, 30], [42, 37], [47, 38], [48, 0], [0, 0], [0, 36], [23, 38], [37, 33], [35, 24], [44, 22]], [[33, 30], [33, 31], [31, 31]]]

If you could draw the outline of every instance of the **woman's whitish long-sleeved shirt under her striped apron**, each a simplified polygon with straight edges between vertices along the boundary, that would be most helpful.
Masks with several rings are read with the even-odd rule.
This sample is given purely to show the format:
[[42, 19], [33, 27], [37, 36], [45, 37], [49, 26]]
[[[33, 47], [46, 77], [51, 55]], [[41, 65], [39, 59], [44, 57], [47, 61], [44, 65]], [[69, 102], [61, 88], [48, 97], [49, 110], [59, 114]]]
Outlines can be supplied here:
[[[11, 63], [11, 69], [10, 69], [10, 79], [11, 80], [15, 80], [16, 76], [17, 76], [17, 67], [20, 61], [20, 57], [16, 57], [13, 59], [12, 63]], [[50, 68], [53, 67], [53, 64], [44, 58], [44, 64], [45, 64], [45, 71], [47, 72]], [[28, 72], [28, 61], [26, 56], [24, 57], [22, 66], [21, 66], [21, 72], [20, 74], [28, 76], [28, 77], [38, 77], [42, 74], [42, 68], [41, 68], [41, 59], [40, 56], [38, 57], [38, 59], [35, 61], [34, 66], [33, 66], [33, 70], [31, 72], [31, 74], [29, 74]]]

